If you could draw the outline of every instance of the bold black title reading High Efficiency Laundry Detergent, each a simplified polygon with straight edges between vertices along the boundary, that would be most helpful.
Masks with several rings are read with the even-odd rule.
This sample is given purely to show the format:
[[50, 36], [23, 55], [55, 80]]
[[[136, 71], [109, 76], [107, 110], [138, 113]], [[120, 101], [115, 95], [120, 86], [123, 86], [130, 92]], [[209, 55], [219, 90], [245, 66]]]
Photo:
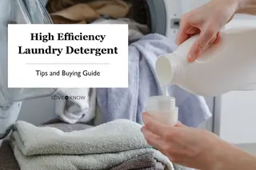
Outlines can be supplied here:
[[[27, 48], [26, 46], [18, 46], [18, 54], [51, 54], [60, 56], [62, 53], [65, 54], [93, 54], [94, 56], [101, 56], [102, 54], [118, 54], [118, 47], [109, 47], [108, 48], [86, 48], [85, 46], [73, 46], [73, 43], [76, 42], [98, 42], [102, 43], [106, 39], [106, 35], [94, 35], [94, 34], [74, 34], [74, 33], [58, 33], [58, 34], [42, 34], [42, 33], [31, 33], [30, 41], [33, 42], [50, 42], [50, 41], [66, 41], [70, 42], [69, 45], [65, 45], [62, 48], [53, 47], [53, 45], [43, 45], [35, 48]], [[58, 43], [57, 42], [57, 43]], [[30, 45], [31, 46], [31, 45]], [[59, 46], [59, 45], [58, 45]], [[95, 45], [94, 45], [95, 46]], [[100, 45], [97, 45], [100, 46]]]

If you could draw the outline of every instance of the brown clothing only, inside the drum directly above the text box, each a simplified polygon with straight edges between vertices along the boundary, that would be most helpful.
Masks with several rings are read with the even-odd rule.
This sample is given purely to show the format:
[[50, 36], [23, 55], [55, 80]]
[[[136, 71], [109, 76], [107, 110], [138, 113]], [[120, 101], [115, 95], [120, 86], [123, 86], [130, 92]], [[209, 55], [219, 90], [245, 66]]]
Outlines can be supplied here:
[[54, 24], [88, 24], [101, 18], [123, 18], [130, 10], [122, 0], [49, 0], [46, 10]]

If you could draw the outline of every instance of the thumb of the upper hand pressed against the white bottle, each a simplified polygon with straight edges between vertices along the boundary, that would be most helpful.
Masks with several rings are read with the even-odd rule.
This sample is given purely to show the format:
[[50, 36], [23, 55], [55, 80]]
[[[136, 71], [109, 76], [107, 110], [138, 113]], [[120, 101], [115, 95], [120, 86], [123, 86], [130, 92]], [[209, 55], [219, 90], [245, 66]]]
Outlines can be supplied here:
[[188, 61], [193, 62], [198, 59], [200, 54], [213, 39], [216, 38], [216, 34], [212, 29], [206, 29], [199, 34], [198, 39], [194, 42], [194, 44], [190, 48], [190, 52], [188, 55]]

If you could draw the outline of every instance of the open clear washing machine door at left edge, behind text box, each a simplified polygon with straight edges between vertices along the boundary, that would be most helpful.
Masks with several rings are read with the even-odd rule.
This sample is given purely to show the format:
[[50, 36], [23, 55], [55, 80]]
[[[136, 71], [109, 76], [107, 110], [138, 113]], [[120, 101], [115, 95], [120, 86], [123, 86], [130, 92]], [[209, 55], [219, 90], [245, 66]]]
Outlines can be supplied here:
[[[37, 15], [32, 18], [29, 10], [22, 0], [17, 1], [3, 1], [0, 4], [0, 108], [8, 109], [13, 102], [24, 101], [32, 98], [51, 96], [58, 91], [58, 89], [50, 88], [8, 88], [8, 48], [7, 48], [7, 23], [12, 24], [33, 24], [41, 22], [42, 24], [50, 21], [50, 16], [44, 16], [41, 10], [44, 7], [33, 6], [30, 9], [37, 11]], [[8, 11], [7, 11], [8, 10]], [[39, 18], [37, 21], [36, 18]], [[42, 19], [40, 19], [42, 18]], [[45, 19], [46, 18], [46, 19]], [[47, 19], [48, 18], [48, 19]], [[34, 22], [36, 21], [36, 22]]]

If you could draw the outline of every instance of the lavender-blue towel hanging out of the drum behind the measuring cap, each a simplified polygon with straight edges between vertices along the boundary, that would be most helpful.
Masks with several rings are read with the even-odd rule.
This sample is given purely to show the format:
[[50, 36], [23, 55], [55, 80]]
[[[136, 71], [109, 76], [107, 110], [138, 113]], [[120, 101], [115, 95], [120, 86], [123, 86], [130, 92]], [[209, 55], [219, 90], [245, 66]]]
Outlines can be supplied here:
[[[97, 89], [97, 101], [104, 122], [128, 119], [142, 124], [142, 112], [151, 96], [162, 95], [162, 88], [154, 73], [158, 56], [172, 53], [176, 49], [174, 41], [160, 34], [148, 34], [129, 45], [129, 88]], [[206, 100], [172, 85], [170, 96], [176, 98], [179, 121], [197, 127], [211, 117]], [[97, 117], [96, 121], [97, 122]]]

